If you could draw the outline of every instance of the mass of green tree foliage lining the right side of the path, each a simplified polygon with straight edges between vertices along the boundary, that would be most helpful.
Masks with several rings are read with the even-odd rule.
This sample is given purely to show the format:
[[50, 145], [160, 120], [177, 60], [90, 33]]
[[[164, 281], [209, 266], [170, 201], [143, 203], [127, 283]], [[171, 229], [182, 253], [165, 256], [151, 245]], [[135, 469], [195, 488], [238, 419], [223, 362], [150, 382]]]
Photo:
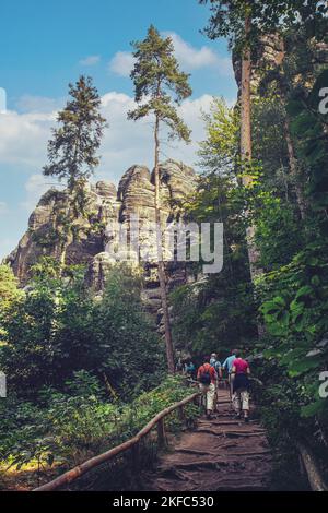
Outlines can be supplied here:
[[[196, 353], [220, 351], [229, 334], [232, 345], [254, 348], [260, 361], [254, 370], [265, 383], [256, 399], [270, 441], [284, 455], [278, 462], [283, 475], [283, 468], [297, 472], [295, 439], [305, 438], [324, 465], [327, 456], [328, 403], [318, 395], [319, 374], [328, 362], [327, 116], [318, 109], [327, 70], [317, 45], [327, 41], [327, 5], [301, 0], [200, 3], [210, 4], [204, 31], [210, 38], [229, 37], [236, 60], [250, 47], [261, 91], [255, 86], [251, 98], [251, 188], [239, 187], [238, 119], [234, 124], [221, 122], [229, 118], [224, 107], [216, 106], [216, 114], [206, 119], [207, 140], [201, 144], [206, 175], [189, 215], [198, 220], [223, 219], [225, 267], [220, 276], [175, 293], [176, 336], [181, 345], [188, 341]], [[283, 37], [285, 56], [282, 63], [270, 60], [265, 69], [258, 61], [263, 49], [259, 40], [262, 35], [268, 40], [271, 34]], [[229, 186], [222, 180], [226, 176], [234, 178]], [[260, 272], [254, 298], [260, 324], [267, 327], [260, 339], [251, 330], [256, 319], [250, 307], [253, 289], [246, 273], [241, 273], [248, 269], [243, 235], [246, 212], [256, 226], [253, 242]], [[237, 276], [236, 283], [247, 291], [244, 296], [231, 287]], [[187, 312], [186, 319], [178, 305]], [[285, 476], [286, 489], [300, 486]]]

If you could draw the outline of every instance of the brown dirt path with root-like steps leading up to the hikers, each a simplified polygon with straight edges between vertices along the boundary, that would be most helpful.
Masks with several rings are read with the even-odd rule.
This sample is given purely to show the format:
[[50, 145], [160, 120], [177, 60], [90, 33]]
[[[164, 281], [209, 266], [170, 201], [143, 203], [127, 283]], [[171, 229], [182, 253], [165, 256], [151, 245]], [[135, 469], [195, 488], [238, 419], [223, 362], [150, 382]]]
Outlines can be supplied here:
[[144, 490], [268, 490], [271, 455], [257, 421], [236, 420], [229, 392], [219, 392], [216, 418], [198, 420], [144, 477]]

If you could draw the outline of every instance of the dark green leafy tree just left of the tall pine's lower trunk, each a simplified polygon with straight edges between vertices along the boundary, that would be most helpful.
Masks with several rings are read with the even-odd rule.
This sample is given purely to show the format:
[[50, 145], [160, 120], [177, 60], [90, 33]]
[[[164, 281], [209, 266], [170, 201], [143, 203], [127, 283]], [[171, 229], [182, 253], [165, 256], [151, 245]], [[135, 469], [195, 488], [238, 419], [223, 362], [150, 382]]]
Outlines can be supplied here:
[[164, 354], [154, 321], [140, 299], [140, 272], [113, 269], [102, 301], [94, 308], [93, 341], [97, 369], [125, 397], [153, 386], [163, 371]]

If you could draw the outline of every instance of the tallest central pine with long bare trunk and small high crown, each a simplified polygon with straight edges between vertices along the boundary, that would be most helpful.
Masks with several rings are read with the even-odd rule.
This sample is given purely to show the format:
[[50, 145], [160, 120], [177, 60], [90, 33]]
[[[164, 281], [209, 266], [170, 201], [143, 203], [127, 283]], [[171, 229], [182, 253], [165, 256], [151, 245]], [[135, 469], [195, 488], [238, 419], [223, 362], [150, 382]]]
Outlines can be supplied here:
[[154, 180], [155, 180], [155, 219], [157, 225], [157, 266], [165, 326], [165, 344], [168, 371], [174, 373], [174, 349], [166, 291], [165, 264], [163, 260], [163, 234], [161, 229], [161, 180], [160, 180], [160, 129], [168, 128], [169, 139], [189, 142], [190, 131], [178, 116], [174, 105], [191, 95], [188, 74], [179, 70], [174, 56], [171, 37], [162, 38], [159, 31], [151, 25], [142, 41], [132, 43], [136, 59], [131, 79], [134, 84], [134, 97], [139, 104], [130, 111], [129, 119], [139, 120], [148, 116], [154, 118]]

